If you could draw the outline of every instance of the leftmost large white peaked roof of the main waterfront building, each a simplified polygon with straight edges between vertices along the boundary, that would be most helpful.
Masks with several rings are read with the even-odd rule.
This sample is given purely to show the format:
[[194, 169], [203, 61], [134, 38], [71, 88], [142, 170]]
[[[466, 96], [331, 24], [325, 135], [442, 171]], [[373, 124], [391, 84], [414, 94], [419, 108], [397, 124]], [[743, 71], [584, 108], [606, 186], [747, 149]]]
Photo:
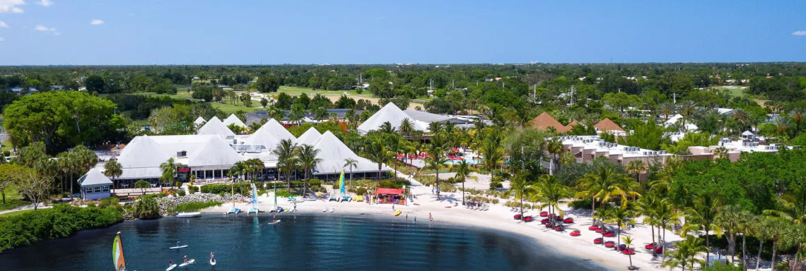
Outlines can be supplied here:
[[136, 137], [123, 149], [118, 158], [123, 175], [120, 179], [158, 178], [162, 175], [160, 163], [168, 161], [171, 154], [148, 136]]

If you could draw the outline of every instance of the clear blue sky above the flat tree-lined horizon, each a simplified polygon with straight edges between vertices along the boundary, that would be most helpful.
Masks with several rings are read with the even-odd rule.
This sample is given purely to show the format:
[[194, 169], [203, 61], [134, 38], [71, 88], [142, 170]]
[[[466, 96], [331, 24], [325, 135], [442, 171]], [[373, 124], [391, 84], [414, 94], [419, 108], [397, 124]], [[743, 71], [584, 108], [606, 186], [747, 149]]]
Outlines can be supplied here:
[[0, 65], [806, 61], [804, 14], [806, 1], [0, 0]]

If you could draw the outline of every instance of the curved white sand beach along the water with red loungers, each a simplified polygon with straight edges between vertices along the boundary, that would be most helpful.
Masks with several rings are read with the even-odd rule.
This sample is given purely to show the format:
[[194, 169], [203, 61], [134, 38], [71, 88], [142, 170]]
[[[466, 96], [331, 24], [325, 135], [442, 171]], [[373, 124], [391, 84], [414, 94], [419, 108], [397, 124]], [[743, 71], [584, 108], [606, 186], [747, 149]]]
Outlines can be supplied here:
[[[469, 183], [469, 182], [468, 182]], [[591, 225], [589, 217], [590, 211], [567, 211], [566, 217], [573, 217], [575, 224], [566, 224], [565, 232], [555, 232], [553, 229], [547, 229], [544, 225], [539, 223], [538, 216], [540, 211], [526, 211], [526, 216], [534, 216], [538, 221], [531, 223], [524, 223], [518, 220], [513, 220], [513, 215], [519, 214], [519, 211], [512, 211], [511, 208], [503, 206], [503, 201], [497, 205], [489, 207], [488, 211], [476, 211], [464, 208], [461, 206], [462, 194], [457, 193], [443, 193], [442, 200], [437, 200], [435, 195], [431, 195], [430, 187], [423, 187], [418, 183], [412, 183], [413, 194], [417, 196], [413, 205], [409, 203], [408, 206], [396, 205], [397, 210], [402, 210], [401, 216], [397, 216], [400, 220], [405, 220], [408, 215], [409, 220], [417, 217], [418, 223], [428, 223], [428, 216], [431, 213], [434, 216], [434, 221], [438, 223], [452, 223], [463, 224], [471, 227], [484, 227], [500, 231], [513, 232], [534, 238], [538, 244], [546, 248], [567, 254], [573, 257], [582, 259], [590, 259], [596, 261], [601, 265], [605, 265], [611, 269], [626, 269], [629, 266], [629, 259], [626, 255], [617, 253], [612, 248], [605, 248], [600, 244], [593, 244], [593, 239], [601, 237], [600, 233], [588, 231], [588, 226]], [[268, 211], [272, 209], [274, 199], [272, 195], [261, 196], [259, 199], [259, 207], [261, 211]], [[291, 208], [293, 203], [289, 203], [287, 199], [277, 199], [280, 207]], [[454, 203], [459, 203], [459, 206], [454, 206]], [[236, 203], [242, 211], [248, 210], [249, 203]], [[451, 206], [448, 208], [447, 206]], [[231, 203], [225, 203], [220, 207], [210, 207], [204, 212], [223, 213], [232, 207]], [[335, 207], [333, 213], [322, 212], [325, 207]], [[564, 210], [566, 210], [565, 208]], [[297, 211], [320, 213], [322, 216], [338, 216], [339, 214], [372, 214], [376, 216], [389, 216], [393, 217], [393, 210], [391, 204], [368, 204], [358, 202], [343, 202], [337, 203], [324, 202], [322, 200], [305, 201], [304, 203], [297, 203]], [[244, 216], [245, 213], [239, 216]], [[281, 215], [280, 215], [281, 216]], [[612, 225], [610, 225], [612, 227]], [[580, 229], [582, 236], [569, 236], [569, 233], [574, 229]], [[652, 242], [652, 234], [648, 226], [638, 224], [636, 228], [626, 230], [624, 234], [629, 234], [633, 237], [635, 247], [635, 255], [633, 255], [633, 265], [639, 267], [641, 270], [667, 270], [661, 269], [660, 257], [652, 260], [652, 253], [644, 249], [645, 244]], [[655, 233], [658, 234], [657, 232]], [[623, 235], [622, 235], [623, 236]], [[680, 240], [679, 236], [671, 231], [666, 233], [667, 240], [670, 243], [674, 240]], [[616, 237], [606, 237], [605, 240], [617, 241]], [[668, 244], [671, 245], [671, 244]]]

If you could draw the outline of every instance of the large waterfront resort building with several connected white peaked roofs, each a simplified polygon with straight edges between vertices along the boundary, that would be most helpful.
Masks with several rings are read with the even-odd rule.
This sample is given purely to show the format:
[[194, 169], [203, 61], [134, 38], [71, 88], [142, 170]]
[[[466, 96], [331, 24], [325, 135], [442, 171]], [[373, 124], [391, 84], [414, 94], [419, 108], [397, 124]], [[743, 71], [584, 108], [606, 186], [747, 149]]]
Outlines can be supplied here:
[[[256, 174], [260, 180], [273, 180], [278, 176], [278, 159], [272, 150], [280, 141], [292, 140], [297, 145], [307, 144], [319, 150], [317, 158], [321, 161], [314, 168], [314, 178], [336, 179], [342, 170], [353, 172], [358, 179], [377, 179], [378, 172], [388, 172], [388, 166], [372, 162], [355, 154], [333, 133], [319, 133], [311, 128], [300, 138], [294, 138], [283, 125], [270, 120], [257, 129], [255, 133], [235, 135], [224, 123], [213, 117], [198, 129], [197, 134], [161, 135], [135, 137], [120, 152], [118, 162], [123, 168], [123, 175], [115, 179], [115, 183], [126, 184], [139, 179], [150, 181], [153, 185], [159, 182], [162, 170], [160, 164], [173, 158], [181, 164], [177, 168], [179, 181], [189, 180], [195, 175], [197, 182], [213, 182], [227, 179], [227, 172], [236, 162], [257, 158], [264, 164], [264, 169]], [[348, 158], [357, 161], [352, 168], [344, 166]], [[102, 165], [99, 165], [99, 167]], [[295, 172], [292, 179], [301, 177], [303, 172]], [[380, 175], [383, 178], [384, 175]]]

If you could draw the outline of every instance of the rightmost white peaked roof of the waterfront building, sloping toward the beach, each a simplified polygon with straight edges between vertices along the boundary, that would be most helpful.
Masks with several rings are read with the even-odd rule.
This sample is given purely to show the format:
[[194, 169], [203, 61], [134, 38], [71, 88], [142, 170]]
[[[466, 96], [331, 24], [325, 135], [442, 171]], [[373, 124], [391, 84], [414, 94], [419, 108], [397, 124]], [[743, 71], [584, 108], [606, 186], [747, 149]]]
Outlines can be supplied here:
[[[350, 172], [349, 167], [344, 166], [344, 159], [353, 158], [358, 161], [358, 166], [353, 167], [353, 172], [372, 172], [378, 170], [378, 164], [372, 162], [367, 158], [363, 158], [355, 154], [347, 145], [336, 138], [333, 133], [327, 131], [322, 133], [319, 141], [314, 145], [314, 148], [319, 150], [316, 158], [321, 158], [322, 161], [316, 166], [316, 174]], [[384, 166], [384, 170], [389, 170], [388, 166]]]

